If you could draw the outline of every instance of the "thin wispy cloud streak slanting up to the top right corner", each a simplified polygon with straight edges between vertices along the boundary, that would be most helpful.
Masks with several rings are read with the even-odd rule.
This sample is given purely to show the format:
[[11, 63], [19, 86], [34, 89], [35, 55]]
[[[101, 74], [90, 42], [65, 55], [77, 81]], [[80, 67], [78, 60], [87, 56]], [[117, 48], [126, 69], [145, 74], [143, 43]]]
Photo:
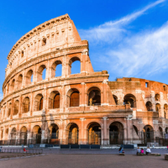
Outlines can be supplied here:
[[114, 40], [119, 40], [120, 37], [126, 32], [126, 29], [124, 28], [125, 25], [143, 15], [147, 10], [163, 2], [165, 2], [165, 0], [157, 0], [154, 3], [145, 6], [143, 9], [127, 15], [119, 20], [109, 21], [88, 30], [79, 30], [79, 33], [83, 39], [87, 39], [89, 42], [98, 43], [105, 41], [112, 43]]

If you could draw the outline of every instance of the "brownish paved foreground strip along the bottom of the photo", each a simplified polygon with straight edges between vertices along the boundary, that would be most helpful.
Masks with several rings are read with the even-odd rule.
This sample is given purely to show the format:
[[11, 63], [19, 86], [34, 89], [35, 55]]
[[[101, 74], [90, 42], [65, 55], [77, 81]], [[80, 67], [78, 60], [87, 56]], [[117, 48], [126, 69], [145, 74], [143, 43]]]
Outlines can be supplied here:
[[0, 168], [167, 168], [164, 156], [118, 156], [117, 154], [47, 154], [31, 158], [1, 160]]

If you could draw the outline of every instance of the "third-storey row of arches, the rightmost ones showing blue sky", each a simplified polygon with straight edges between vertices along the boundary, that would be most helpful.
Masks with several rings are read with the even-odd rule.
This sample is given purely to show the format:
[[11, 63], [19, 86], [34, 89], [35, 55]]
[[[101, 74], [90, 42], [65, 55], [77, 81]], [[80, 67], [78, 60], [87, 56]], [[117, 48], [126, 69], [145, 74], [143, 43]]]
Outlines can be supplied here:
[[[79, 57], [73, 57], [69, 60], [69, 74], [76, 74], [81, 72], [81, 63]], [[46, 64], [42, 64], [37, 68], [37, 72], [30, 68], [25, 75], [19, 74], [18, 77], [8, 82], [6, 90], [4, 89], [4, 94], [13, 92], [16, 89], [21, 89], [24, 85], [30, 85], [32, 82], [39, 82], [45, 80], [46, 78], [55, 78], [62, 76], [62, 61], [57, 60], [52, 63], [51, 67], [48, 67]], [[50, 74], [50, 75], [47, 75]], [[23, 81], [24, 80], [24, 81]]]

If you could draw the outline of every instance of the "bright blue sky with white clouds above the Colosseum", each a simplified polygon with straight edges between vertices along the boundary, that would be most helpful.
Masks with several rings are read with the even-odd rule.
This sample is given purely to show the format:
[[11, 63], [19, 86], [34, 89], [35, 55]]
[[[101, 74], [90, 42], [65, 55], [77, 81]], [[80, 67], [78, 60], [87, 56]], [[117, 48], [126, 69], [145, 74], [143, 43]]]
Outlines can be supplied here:
[[16, 41], [66, 13], [89, 41], [95, 71], [107, 70], [109, 80], [137, 77], [168, 84], [168, 0], [8, 0], [0, 2], [1, 88]]

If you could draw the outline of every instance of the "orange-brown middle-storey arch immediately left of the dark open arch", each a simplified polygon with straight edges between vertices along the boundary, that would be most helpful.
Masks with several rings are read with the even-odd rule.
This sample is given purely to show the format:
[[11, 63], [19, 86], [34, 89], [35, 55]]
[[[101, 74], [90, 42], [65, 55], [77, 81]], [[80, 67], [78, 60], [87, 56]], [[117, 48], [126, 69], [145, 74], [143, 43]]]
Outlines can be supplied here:
[[79, 106], [80, 93], [76, 88], [71, 88], [67, 93], [67, 101], [69, 107], [77, 107]]

